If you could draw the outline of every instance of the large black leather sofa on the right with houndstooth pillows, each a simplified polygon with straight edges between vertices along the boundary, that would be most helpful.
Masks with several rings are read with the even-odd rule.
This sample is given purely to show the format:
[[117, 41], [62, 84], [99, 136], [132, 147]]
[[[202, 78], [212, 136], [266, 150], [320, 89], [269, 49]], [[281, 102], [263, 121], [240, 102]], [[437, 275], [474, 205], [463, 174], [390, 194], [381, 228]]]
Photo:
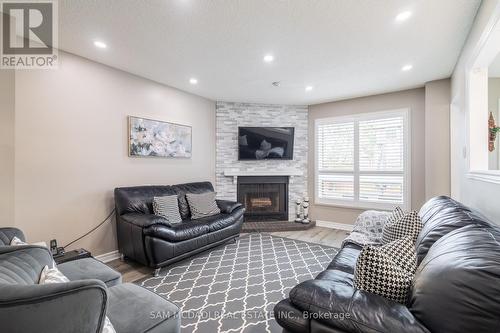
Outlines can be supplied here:
[[431, 199], [419, 214], [419, 266], [407, 306], [353, 287], [361, 248], [348, 244], [275, 306], [283, 332], [500, 332], [499, 227], [448, 197]]

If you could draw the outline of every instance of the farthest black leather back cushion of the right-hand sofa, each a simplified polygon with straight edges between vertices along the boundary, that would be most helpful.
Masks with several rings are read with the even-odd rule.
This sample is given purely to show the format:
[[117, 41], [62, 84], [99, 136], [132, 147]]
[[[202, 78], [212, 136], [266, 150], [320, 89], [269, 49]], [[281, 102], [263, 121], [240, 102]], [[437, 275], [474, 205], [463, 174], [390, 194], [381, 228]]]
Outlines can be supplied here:
[[427, 201], [420, 209], [423, 228], [417, 238], [417, 261], [420, 263], [431, 246], [446, 234], [466, 225], [490, 226], [484, 217], [446, 196]]

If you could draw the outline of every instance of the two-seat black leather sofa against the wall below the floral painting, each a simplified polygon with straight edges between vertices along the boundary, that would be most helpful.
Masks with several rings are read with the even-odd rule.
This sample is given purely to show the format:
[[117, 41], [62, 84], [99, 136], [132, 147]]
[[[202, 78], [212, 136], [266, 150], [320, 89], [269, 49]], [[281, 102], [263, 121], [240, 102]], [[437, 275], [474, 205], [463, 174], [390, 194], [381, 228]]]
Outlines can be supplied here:
[[[159, 268], [239, 236], [244, 207], [217, 200], [221, 214], [191, 220], [186, 193], [213, 192], [210, 182], [115, 189], [118, 250], [122, 256]], [[182, 223], [153, 214], [154, 197], [177, 194]]]

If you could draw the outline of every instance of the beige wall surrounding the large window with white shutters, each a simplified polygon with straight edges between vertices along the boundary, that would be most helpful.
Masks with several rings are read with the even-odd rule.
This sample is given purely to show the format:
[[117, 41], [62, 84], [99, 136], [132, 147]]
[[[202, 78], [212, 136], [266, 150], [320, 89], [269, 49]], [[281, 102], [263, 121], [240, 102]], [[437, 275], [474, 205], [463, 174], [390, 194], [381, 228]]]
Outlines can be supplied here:
[[[314, 197], [314, 121], [318, 118], [343, 116], [356, 113], [368, 113], [398, 108], [409, 108], [412, 128], [412, 207], [420, 208], [425, 200], [425, 91], [423, 88], [368, 96], [339, 102], [312, 105], [309, 107], [309, 193]], [[311, 217], [314, 220], [337, 223], [354, 223], [362, 212], [359, 209], [347, 209], [324, 205], [311, 205]]]

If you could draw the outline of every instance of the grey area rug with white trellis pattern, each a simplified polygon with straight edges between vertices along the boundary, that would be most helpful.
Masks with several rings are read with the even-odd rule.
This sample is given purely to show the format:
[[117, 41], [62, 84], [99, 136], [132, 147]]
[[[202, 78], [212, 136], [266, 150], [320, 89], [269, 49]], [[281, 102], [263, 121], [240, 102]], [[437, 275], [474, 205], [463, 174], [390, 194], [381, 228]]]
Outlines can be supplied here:
[[323, 271], [337, 252], [253, 233], [137, 283], [180, 307], [182, 333], [281, 333], [274, 305]]

